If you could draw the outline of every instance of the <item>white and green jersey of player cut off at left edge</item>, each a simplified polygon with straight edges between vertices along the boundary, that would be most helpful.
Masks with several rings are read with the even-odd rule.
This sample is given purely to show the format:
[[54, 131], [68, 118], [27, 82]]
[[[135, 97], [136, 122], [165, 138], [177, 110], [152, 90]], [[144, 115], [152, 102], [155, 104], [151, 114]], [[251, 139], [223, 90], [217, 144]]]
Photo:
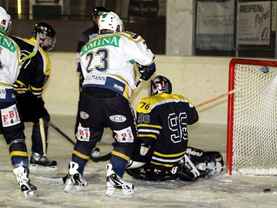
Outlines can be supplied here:
[[17, 44], [0, 30], [0, 102], [13, 102], [12, 84], [16, 81], [22, 66]]

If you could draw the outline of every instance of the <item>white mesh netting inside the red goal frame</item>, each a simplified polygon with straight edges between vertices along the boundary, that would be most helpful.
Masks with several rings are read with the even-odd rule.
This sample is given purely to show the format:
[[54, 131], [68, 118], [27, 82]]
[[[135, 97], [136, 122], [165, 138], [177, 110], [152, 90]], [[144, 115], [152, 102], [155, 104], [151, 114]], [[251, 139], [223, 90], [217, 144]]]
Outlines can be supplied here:
[[233, 169], [277, 172], [277, 67], [236, 64], [236, 88]]

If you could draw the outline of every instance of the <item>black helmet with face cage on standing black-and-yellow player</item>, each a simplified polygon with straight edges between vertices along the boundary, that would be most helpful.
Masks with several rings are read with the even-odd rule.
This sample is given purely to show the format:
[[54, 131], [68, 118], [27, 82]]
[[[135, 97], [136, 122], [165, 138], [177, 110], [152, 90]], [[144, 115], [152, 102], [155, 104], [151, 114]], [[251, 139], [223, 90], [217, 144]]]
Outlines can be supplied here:
[[32, 36], [37, 37], [37, 32], [43, 34], [43, 38], [40, 38], [40, 40], [43, 41], [40, 46], [42, 46], [44, 51], [50, 51], [54, 48], [56, 43], [56, 32], [49, 24], [45, 22], [36, 24]]

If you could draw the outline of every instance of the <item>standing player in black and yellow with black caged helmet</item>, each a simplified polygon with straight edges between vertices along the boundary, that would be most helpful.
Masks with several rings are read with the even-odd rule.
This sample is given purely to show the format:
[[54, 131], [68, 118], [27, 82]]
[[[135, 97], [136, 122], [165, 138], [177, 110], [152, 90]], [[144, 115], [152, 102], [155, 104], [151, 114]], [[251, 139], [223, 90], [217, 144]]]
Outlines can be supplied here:
[[23, 121], [34, 123], [30, 169], [36, 169], [37, 165], [43, 165], [46, 169], [55, 169], [56, 161], [51, 161], [46, 157], [50, 116], [41, 97], [43, 87], [50, 74], [50, 61], [45, 51], [49, 51], [55, 46], [55, 31], [50, 25], [41, 22], [35, 25], [31, 39], [20, 37], [12, 37], [12, 39], [18, 44], [22, 54], [26, 56], [34, 49], [37, 33], [40, 34], [38, 52], [34, 57], [23, 62], [22, 70], [13, 84], [13, 88]]

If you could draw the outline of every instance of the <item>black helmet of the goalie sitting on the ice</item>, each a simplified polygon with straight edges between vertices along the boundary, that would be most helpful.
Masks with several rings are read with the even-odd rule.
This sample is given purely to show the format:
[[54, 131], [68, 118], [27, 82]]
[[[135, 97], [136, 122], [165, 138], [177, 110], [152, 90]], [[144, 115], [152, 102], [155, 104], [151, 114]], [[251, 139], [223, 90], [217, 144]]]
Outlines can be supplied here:
[[161, 93], [170, 94], [172, 91], [171, 83], [169, 79], [159, 75], [151, 79], [151, 81], [149, 82], [147, 91], [149, 96], [153, 96]]

